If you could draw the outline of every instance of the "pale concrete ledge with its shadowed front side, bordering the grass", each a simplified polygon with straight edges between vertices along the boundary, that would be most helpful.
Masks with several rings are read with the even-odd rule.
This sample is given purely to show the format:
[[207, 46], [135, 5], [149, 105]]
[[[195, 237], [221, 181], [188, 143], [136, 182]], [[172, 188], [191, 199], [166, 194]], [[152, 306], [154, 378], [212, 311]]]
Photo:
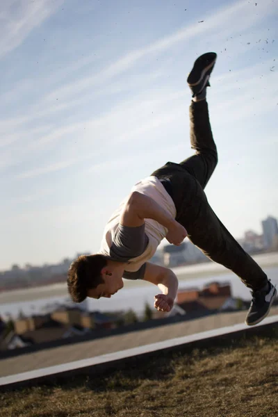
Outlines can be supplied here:
[[84, 373], [97, 375], [106, 370], [114, 370], [119, 367], [126, 368], [131, 361], [135, 361], [138, 364], [138, 361], [142, 359], [156, 357], [158, 354], [161, 356], [169, 351], [183, 350], [186, 347], [190, 349], [201, 346], [208, 347], [214, 343], [218, 344], [221, 341], [227, 342], [243, 336], [268, 333], [273, 329], [278, 329], [278, 315], [265, 318], [263, 322], [254, 327], [248, 327], [240, 323], [238, 325], [209, 330], [208, 332], [190, 334], [189, 336], [181, 336], [158, 343], [133, 347], [132, 349], [121, 350], [111, 354], [103, 354], [90, 359], [63, 363], [58, 366], [50, 366], [17, 375], [10, 375], [8, 377], [0, 377], [0, 390], [18, 389], [26, 385], [54, 382], [56, 378], [65, 379]]

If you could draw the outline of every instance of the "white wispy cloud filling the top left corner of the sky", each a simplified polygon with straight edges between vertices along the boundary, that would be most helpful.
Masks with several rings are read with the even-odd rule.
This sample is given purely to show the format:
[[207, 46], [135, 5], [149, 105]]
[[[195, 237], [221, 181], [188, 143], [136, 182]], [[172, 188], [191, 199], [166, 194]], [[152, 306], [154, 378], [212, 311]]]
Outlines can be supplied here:
[[63, 1], [1, 1], [0, 58], [22, 44], [34, 28], [56, 12]]

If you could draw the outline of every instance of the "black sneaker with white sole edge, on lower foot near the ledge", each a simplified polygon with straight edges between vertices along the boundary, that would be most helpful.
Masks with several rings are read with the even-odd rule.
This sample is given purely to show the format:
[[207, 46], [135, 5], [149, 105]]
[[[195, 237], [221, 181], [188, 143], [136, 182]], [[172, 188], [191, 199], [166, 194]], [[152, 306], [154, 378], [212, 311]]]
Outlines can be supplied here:
[[274, 285], [268, 281], [268, 290], [252, 291], [252, 302], [245, 318], [245, 325], [254, 326], [268, 316], [272, 302], [277, 295]]

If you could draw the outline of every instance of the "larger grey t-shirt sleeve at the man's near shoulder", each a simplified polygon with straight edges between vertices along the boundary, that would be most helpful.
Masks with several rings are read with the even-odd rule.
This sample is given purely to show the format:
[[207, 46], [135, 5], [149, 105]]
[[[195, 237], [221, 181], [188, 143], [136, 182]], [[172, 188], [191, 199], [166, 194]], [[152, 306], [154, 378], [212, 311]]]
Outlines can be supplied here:
[[145, 224], [129, 227], [119, 224], [113, 238], [109, 255], [115, 261], [129, 261], [140, 256], [146, 249], [149, 238], [145, 234]]

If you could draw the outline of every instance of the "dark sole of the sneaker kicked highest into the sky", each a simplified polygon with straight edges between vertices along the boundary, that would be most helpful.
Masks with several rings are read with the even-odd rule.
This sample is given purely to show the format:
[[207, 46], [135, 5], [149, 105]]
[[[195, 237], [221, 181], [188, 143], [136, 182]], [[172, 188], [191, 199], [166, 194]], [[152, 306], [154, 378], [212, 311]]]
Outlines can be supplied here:
[[[208, 52], [207, 54], [199, 56], [199, 58], [195, 60], [193, 69], [191, 70], [187, 79], [187, 83], [190, 85], [190, 87], [195, 87], [195, 85], [198, 85], [202, 81], [206, 72], [208, 72], [206, 76], [206, 82], [208, 81], [209, 76], [213, 70], [213, 66], [215, 65], [216, 58], [217, 54], [215, 54], [215, 52]], [[205, 61], [207, 61], [207, 63], [204, 67]]]

